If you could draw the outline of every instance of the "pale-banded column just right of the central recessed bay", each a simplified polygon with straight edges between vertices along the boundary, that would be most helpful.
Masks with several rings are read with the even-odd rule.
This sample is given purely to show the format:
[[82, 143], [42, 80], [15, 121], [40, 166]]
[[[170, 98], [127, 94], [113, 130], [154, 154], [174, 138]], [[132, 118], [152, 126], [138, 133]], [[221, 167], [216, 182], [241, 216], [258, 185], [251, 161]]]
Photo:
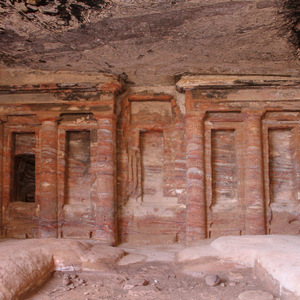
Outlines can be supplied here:
[[204, 116], [186, 116], [187, 243], [206, 238]]

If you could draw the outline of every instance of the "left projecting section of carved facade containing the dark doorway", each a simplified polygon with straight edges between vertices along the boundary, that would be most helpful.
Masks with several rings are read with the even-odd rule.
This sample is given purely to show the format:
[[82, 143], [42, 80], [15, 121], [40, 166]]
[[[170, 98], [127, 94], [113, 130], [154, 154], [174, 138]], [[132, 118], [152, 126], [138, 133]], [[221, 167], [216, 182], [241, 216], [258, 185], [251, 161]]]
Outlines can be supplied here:
[[[122, 84], [98, 75], [16, 77], [26, 84], [2, 85], [0, 96], [2, 236], [114, 243], [115, 95]], [[28, 155], [31, 201], [20, 189], [28, 168], [19, 160]]]

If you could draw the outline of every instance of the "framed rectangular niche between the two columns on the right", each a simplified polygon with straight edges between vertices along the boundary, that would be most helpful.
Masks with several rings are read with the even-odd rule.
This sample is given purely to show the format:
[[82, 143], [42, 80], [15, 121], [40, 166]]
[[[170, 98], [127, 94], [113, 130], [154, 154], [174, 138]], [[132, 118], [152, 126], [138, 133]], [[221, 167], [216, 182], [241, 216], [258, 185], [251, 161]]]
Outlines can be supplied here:
[[[223, 115], [220, 114], [221, 117]], [[219, 117], [220, 117], [219, 116]], [[225, 116], [224, 116], [225, 117]], [[244, 210], [240, 182], [241, 126], [228, 122], [206, 122], [206, 201], [208, 236], [240, 235]]]

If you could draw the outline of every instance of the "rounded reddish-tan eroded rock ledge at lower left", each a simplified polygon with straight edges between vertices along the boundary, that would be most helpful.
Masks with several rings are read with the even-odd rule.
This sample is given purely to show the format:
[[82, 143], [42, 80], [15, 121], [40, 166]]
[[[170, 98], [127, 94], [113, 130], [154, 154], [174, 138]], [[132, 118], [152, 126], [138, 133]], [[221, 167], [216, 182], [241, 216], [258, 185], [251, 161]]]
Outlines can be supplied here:
[[55, 270], [107, 270], [122, 249], [76, 240], [14, 240], [0, 245], [0, 299], [19, 299]]

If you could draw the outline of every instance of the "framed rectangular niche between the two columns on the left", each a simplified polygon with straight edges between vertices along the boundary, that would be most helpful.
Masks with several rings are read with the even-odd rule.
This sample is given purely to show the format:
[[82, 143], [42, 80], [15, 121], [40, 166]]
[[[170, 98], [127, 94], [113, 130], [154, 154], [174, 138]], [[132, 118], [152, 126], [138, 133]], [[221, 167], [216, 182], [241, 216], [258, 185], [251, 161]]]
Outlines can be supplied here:
[[[90, 115], [64, 116], [59, 126], [58, 172], [61, 180], [58, 182], [58, 226], [61, 237], [91, 238], [95, 234], [92, 203], [97, 203], [94, 191], [99, 158], [96, 126]], [[103, 170], [102, 166], [97, 165], [98, 170]]]

